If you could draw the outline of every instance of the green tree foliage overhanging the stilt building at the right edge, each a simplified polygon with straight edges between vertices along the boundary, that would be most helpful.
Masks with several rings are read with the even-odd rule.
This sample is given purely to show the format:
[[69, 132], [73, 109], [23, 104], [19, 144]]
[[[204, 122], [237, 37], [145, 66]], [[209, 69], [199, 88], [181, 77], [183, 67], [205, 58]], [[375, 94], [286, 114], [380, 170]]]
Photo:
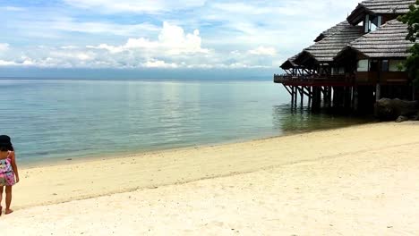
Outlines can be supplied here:
[[409, 33], [406, 39], [415, 43], [409, 49], [412, 55], [407, 58], [406, 69], [413, 79], [416, 89], [419, 89], [419, 44], [416, 43], [416, 39], [419, 38], [419, 0], [416, 0], [416, 3], [410, 6], [408, 13], [398, 17], [398, 21], [407, 24]]

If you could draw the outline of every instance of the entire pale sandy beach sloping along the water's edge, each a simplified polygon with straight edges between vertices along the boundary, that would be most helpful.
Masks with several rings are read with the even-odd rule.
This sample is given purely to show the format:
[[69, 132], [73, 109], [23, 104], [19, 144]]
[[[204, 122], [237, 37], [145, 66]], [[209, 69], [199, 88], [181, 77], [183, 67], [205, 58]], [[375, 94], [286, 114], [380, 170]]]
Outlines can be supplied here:
[[419, 123], [21, 170], [2, 235], [419, 235]]

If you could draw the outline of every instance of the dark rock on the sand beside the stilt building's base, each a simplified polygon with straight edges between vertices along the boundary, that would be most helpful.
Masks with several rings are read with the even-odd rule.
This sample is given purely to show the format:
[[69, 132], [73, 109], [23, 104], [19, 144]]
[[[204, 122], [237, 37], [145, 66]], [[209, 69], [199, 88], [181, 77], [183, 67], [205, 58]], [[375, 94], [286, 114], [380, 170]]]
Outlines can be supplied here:
[[394, 121], [400, 115], [409, 117], [418, 114], [418, 112], [418, 101], [381, 98], [375, 103], [375, 116], [383, 121]]

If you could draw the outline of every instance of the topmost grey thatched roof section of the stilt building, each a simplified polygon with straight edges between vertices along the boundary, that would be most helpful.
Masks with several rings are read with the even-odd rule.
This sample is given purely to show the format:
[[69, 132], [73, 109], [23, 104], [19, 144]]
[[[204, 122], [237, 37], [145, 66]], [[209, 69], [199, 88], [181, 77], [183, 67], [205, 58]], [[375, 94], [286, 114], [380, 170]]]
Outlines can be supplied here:
[[358, 4], [355, 10], [347, 17], [347, 21], [356, 25], [363, 21], [365, 14], [404, 14], [415, 0], [366, 0]]

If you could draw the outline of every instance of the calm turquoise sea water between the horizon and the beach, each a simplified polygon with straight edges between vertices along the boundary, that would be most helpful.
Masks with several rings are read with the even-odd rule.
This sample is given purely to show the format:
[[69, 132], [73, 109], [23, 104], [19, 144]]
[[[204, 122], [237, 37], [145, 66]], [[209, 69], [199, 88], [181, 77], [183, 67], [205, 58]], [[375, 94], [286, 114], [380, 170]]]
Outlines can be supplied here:
[[0, 80], [0, 88], [0, 133], [24, 164], [368, 122], [293, 111], [270, 80]]

